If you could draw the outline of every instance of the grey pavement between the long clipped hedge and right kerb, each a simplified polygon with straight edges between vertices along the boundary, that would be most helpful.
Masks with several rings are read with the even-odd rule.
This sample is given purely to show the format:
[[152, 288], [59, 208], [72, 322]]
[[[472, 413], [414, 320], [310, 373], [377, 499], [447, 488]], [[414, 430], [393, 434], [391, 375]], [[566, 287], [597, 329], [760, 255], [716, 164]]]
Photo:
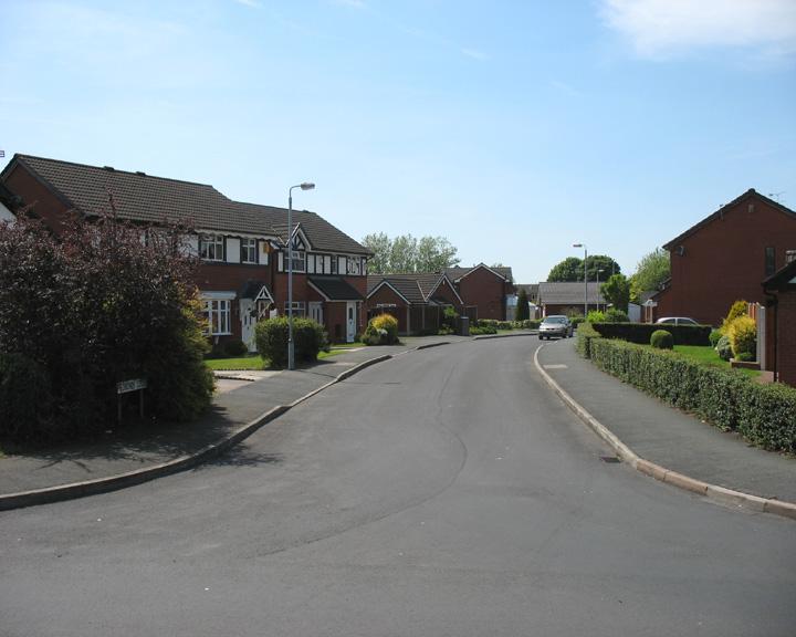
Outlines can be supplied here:
[[538, 362], [640, 458], [709, 484], [796, 503], [796, 459], [751, 447], [626, 385], [580, 358], [574, 338], [546, 343]]

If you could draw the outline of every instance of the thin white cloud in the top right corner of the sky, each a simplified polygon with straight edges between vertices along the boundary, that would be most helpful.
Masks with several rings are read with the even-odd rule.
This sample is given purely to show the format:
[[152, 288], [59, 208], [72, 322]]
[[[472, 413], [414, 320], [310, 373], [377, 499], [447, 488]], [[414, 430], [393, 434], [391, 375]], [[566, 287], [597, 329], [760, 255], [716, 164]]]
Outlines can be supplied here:
[[746, 48], [796, 53], [794, 0], [600, 0], [609, 27], [636, 51], [666, 58], [692, 49]]

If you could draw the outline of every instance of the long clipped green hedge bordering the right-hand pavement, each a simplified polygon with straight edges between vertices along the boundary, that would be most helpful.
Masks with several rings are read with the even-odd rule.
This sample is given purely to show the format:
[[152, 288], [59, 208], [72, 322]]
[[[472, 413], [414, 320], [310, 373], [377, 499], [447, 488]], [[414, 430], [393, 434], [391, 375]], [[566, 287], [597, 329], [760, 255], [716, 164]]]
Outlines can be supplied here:
[[796, 452], [796, 389], [761, 385], [674, 352], [599, 337], [584, 342], [595, 365], [617, 378], [765, 449]]

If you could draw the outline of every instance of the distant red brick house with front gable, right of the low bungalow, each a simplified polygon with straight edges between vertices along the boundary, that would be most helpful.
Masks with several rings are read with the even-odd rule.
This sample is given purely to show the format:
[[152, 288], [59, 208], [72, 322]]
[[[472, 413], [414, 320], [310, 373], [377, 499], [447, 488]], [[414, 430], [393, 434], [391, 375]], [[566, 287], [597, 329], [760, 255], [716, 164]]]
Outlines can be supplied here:
[[446, 274], [464, 303], [464, 315], [471, 321], [507, 320], [507, 297], [515, 291], [511, 268], [479, 263], [473, 268], [448, 268]]

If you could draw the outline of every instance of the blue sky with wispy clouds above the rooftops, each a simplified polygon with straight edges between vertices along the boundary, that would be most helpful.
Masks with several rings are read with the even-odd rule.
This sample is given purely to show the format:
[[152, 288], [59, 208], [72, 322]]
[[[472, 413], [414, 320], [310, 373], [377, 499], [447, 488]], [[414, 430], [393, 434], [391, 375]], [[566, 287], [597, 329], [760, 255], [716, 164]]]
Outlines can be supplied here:
[[0, 148], [212, 184], [544, 280], [796, 208], [793, 0], [0, 0]]

